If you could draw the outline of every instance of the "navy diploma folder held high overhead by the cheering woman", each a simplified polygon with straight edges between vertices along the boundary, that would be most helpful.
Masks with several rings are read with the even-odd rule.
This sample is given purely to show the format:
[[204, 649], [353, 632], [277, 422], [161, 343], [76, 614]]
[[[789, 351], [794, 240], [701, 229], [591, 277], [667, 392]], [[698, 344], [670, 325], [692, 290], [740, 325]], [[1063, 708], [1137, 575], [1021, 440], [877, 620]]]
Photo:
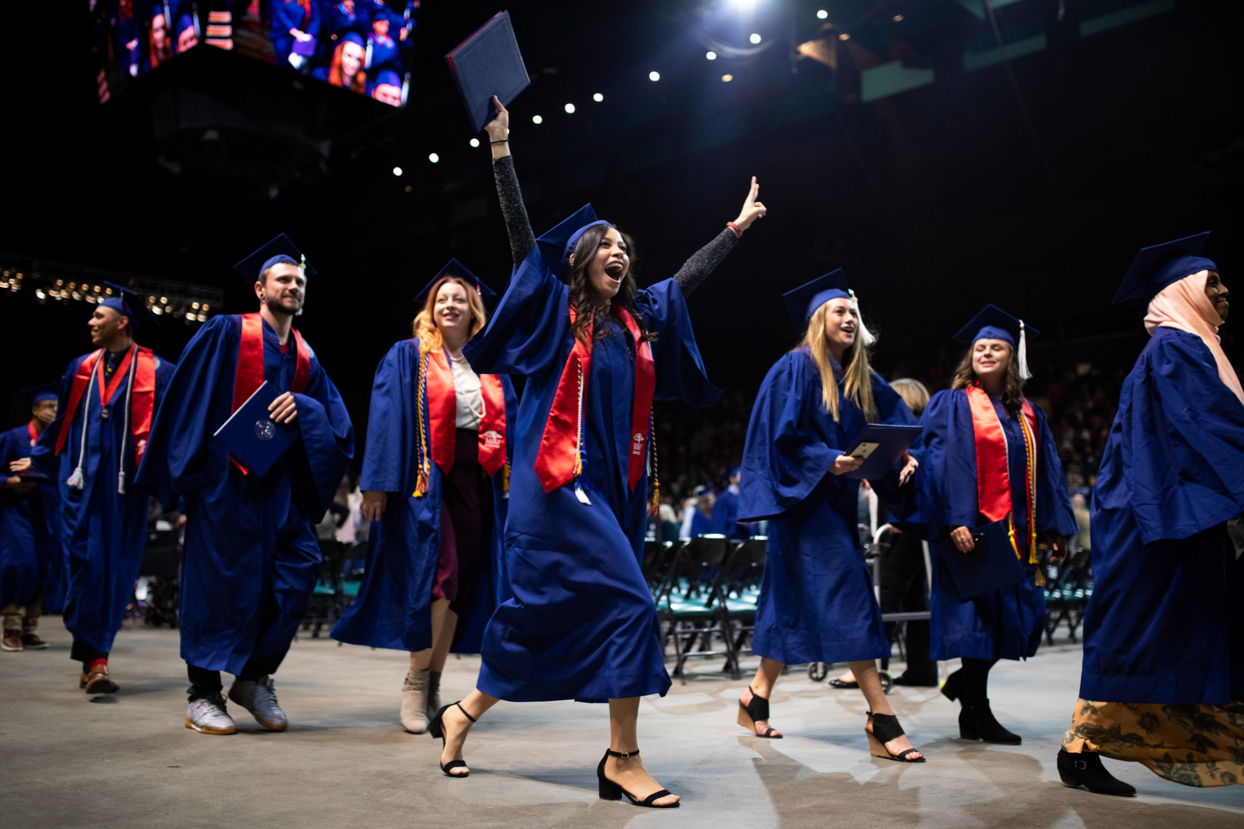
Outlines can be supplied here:
[[519, 41], [514, 39], [509, 11], [493, 15], [479, 31], [445, 55], [445, 62], [476, 133], [496, 117], [494, 94], [500, 98], [501, 106], [508, 107], [531, 86], [527, 67], [519, 53]]

